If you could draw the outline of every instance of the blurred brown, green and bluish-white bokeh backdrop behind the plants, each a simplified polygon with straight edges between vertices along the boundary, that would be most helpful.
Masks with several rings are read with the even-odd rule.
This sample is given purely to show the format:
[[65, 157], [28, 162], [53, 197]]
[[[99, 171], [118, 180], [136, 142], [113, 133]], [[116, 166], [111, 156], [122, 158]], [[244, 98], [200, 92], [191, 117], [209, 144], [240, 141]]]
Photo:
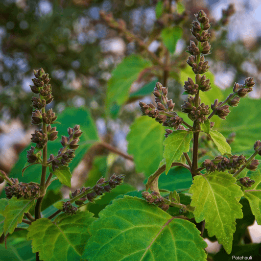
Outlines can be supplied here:
[[[112, 106], [108, 113], [104, 108], [112, 71], [128, 55], [142, 53], [146, 58], [142, 42], [152, 58], [153, 54], [164, 56], [159, 32], [169, 23], [175, 23], [184, 33], [170, 58], [173, 71], [166, 81], [157, 71], [142, 75], [132, 84], [130, 93], [137, 94], [147, 83], [159, 80], [169, 88], [169, 98], [176, 105], [182, 104], [185, 95], [182, 95], [183, 84], [177, 75], [186, 67], [189, 55], [185, 50], [193, 39], [191, 22], [200, 9], [213, 23], [210, 40], [213, 50], [207, 58], [215, 76], [214, 84], [226, 90], [235, 82], [243, 83], [245, 78], [254, 77], [256, 86], [250, 96], [253, 102], [260, 99], [261, 1], [161, 2], [168, 4], [169, 14], [178, 10], [178, 15], [174, 18], [161, 15], [158, 0], [1, 0], [0, 169], [9, 173], [19, 153], [30, 143], [34, 128], [30, 125], [32, 93], [29, 85], [33, 69], [41, 67], [50, 74], [54, 96], [47, 109], [53, 108], [58, 114], [70, 106], [88, 108], [99, 139], [126, 154], [129, 126], [141, 115], [139, 101], [153, 101], [154, 86], [149, 92], [130, 95], [120, 108], [114, 104], [116, 107]], [[223, 9], [228, 12], [222, 13]], [[112, 21], [117, 21], [117, 25]], [[127, 174], [128, 184], [138, 190], [144, 189], [144, 176], [135, 170], [132, 160], [97, 146], [89, 150], [74, 169], [72, 190], [79, 188], [89, 172], [100, 166], [102, 158], [97, 160], [97, 156], [107, 157], [109, 173]], [[63, 193], [68, 195], [68, 190], [64, 189]], [[260, 230], [254, 237], [253, 240], [261, 242]]]

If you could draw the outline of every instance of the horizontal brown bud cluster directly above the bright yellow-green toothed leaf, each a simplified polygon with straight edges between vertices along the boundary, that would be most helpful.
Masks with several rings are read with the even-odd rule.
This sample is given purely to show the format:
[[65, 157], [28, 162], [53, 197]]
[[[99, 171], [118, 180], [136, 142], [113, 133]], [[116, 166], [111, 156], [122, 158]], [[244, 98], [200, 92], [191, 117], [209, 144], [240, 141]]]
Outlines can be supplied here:
[[243, 155], [233, 155], [229, 159], [222, 156], [217, 156], [214, 160], [205, 160], [202, 163], [202, 167], [206, 168], [208, 173], [217, 171], [230, 170], [230, 173], [235, 173], [237, 169], [246, 163], [246, 159]]

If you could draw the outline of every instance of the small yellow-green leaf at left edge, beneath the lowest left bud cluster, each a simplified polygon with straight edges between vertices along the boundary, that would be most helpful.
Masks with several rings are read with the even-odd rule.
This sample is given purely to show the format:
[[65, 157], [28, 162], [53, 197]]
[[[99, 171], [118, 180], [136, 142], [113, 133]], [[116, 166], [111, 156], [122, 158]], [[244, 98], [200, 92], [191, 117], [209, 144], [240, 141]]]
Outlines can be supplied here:
[[3, 229], [5, 237], [7, 234], [12, 234], [17, 227], [18, 223], [21, 223], [24, 217], [24, 213], [27, 213], [34, 203], [34, 198], [24, 199], [12, 197], [8, 200], [8, 205], [5, 207], [3, 216], [5, 217]]

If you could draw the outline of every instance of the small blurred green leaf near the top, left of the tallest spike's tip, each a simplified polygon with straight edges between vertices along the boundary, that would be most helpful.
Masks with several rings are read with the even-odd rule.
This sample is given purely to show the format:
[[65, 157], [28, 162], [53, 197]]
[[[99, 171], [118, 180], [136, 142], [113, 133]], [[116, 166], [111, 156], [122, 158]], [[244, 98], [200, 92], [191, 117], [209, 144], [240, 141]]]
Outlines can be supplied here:
[[161, 38], [168, 50], [173, 53], [176, 50], [176, 45], [182, 37], [182, 29], [178, 26], [166, 27], [161, 31]]

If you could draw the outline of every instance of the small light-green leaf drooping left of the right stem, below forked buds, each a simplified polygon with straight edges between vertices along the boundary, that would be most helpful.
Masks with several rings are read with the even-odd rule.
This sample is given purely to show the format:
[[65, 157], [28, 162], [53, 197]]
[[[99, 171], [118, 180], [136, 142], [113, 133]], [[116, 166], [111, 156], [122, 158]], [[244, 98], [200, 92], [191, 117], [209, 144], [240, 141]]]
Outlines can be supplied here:
[[166, 174], [174, 161], [179, 161], [183, 152], [190, 150], [192, 131], [176, 130], [169, 134], [163, 142], [165, 145], [163, 157], [166, 159]]

